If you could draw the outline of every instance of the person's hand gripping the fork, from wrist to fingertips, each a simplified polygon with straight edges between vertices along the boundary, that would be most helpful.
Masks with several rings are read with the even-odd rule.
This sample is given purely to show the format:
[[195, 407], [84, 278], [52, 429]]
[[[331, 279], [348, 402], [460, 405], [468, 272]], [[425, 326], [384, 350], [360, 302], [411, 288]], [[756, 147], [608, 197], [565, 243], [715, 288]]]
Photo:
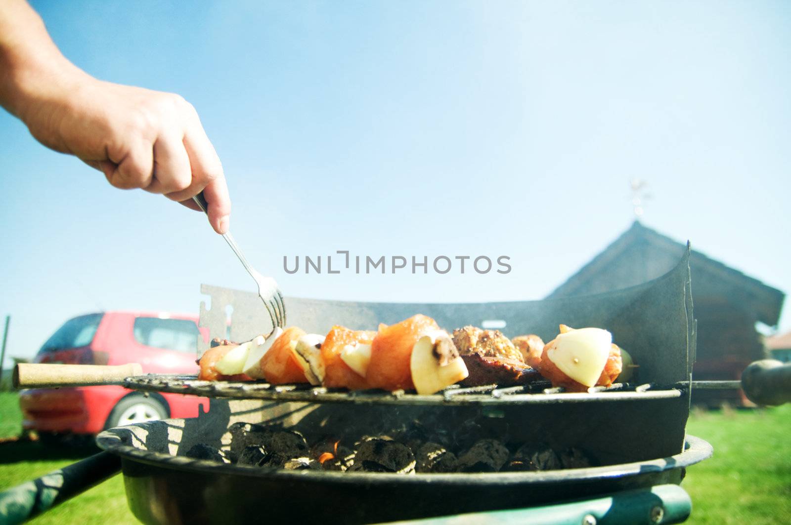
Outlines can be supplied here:
[[181, 96], [98, 81], [81, 70], [28, 89], [19, 116], [39, 142], [97, 168], [114, 187], [165, 195], [192, 210], [203, 191], [215, 231], [229, 227], [222, 165]]

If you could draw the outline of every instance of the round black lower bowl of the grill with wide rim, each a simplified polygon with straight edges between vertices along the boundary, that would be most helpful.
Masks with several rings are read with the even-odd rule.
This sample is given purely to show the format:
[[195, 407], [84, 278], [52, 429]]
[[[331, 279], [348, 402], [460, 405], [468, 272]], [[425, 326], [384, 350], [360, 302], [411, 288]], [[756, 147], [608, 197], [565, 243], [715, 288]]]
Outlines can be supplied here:
[[377, 523], [524, 508], [679, 484], [687, 466], [712, 453], [706, 441], [687, 436], [684, 451], [661, 459], [543, 472], [415, 475], [249, 468], [168, 453], [211, 443], [217, 433], [195, 420], [170, 419], [102, 432], [97, 444], [121, 457], [127, 499], [143, 523]]

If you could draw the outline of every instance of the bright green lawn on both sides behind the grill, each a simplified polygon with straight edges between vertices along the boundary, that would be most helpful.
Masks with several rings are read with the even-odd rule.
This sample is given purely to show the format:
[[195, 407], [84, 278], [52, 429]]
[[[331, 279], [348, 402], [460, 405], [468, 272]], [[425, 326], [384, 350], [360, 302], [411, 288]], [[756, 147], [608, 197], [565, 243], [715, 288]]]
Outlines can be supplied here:
[[[18, 435], [17, 396], [0, 392], [0, 438]], [[682, 487], [692, 497], [687, 523], [791, 523], [791, 405], [767, 410], [691, 414], [687, 432], [710, 442], [714, 456], [687, 469]], [[0, 490], [58, 469], [95, 450], [0, 444]], [[137, 523], [120, 476], [31, 523]]]

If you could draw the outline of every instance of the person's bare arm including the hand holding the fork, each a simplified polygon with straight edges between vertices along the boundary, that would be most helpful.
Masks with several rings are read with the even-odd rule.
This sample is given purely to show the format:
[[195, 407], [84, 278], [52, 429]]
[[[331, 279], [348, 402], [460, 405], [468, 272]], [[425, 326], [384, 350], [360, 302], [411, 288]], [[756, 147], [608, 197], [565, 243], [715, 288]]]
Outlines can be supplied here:
[[228, 229], [231, 202], [217, 153], [184, 98], [97, 80], [69, 62], [24, 0], [0, 0], [0, 105], [48, 148], [97, 168], [114, 187], [182, 202], [203, 191], [209, 221]]

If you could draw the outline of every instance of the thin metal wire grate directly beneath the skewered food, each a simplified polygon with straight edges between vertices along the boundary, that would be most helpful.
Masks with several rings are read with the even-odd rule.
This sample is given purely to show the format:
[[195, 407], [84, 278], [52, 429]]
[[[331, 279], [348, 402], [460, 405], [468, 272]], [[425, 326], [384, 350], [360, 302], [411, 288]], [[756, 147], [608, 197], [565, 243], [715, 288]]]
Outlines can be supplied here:
[[[652, 383], [632, 385], [614, 383], [611, 387], [595, 387], [589, 392], [566, 392], [562, 387], [551, 387], [540, 382], [520, 387], [498, 387], [496, 384], [482, 387], [460, 387], [452, 385], [433, 395], [418, 395], [403, 390], [383, 392], [380, 390], [346, 391], [341, 388], [312, 387], [308, 384], [272, 385], [270, 383], [233, 383], [202, 381], [195, 376], [172, 376], [149, 374], [128, 377], [123, 387], [138, 391], [172, 392], [209, 398], [264, 399], [267, 401], [293, 402], [344, 402], [355, 404], [392, 405], [486, 405], [527, 404], [558, 402], [601, 402], [632, 401], [646, 399], [678, 398], [683, 388], [657, 387]], [[680, 387], [680, 388], [679, 388]]]

